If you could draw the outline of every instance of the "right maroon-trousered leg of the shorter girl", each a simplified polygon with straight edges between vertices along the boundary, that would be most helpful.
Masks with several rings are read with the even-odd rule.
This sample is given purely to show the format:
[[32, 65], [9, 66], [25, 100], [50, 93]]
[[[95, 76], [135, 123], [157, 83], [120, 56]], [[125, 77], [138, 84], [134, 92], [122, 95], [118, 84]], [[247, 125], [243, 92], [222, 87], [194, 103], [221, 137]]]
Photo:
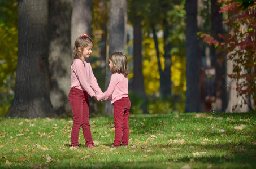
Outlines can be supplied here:
[[124, 123], [123, 123], [123, 136], [122, 136], [122, 145], [128, 145], [129, 142], [129, 110], [131, 108], [131, 102], [129, 98], [123, 98], [125, 99], [123, 101], [125, 110], [124, 110]]

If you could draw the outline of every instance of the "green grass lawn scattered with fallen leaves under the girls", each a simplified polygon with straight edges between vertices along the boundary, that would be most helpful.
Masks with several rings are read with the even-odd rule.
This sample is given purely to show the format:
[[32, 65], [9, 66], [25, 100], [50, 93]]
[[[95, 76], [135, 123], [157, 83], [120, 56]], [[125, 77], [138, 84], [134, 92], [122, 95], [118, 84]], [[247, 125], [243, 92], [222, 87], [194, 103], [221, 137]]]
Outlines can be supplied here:
[[[96, 148], [84, 146], [80, 130], [80, 148], [73, 150], [68, 146], [72, 118], [0, 118], [0, 168], [256, 166], [255, 114], [197, 115], [201, 117], [196, 113], [130, 115], [129, 146], [120, 148], [111, 148], [114, 119], [91, 117]], [[236, 130], [239, 126], [244, 128]]]

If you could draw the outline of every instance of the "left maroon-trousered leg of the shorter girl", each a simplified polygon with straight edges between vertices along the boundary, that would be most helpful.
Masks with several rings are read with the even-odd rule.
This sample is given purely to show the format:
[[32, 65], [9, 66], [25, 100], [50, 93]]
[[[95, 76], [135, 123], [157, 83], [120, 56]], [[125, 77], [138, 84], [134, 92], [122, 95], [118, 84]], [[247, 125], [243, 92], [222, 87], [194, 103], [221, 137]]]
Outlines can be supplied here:
[[114, 103], [115, 140], [114, 146], [120, 146], [122, 140], [124, 112], [120, 100]]

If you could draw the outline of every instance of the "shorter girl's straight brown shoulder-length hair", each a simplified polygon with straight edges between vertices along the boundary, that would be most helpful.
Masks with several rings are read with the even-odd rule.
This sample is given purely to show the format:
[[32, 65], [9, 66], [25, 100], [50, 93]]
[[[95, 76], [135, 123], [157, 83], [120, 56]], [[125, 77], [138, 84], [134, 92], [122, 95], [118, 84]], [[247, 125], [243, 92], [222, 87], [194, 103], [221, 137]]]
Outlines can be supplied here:
[[127, 69], [127, 57], [122, 52], [115, 52], [112, 54], [109, 59], [116, 66], [111, 70], [112, 73], [122, 73], [124, 75], [128, 75], [129, 71]]

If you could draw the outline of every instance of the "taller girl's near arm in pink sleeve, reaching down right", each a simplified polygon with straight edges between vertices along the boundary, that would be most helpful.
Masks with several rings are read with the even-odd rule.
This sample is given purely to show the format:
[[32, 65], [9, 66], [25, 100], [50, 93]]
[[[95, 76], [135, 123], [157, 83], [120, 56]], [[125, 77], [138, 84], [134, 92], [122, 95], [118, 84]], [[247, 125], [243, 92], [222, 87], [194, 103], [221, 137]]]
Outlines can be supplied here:
[[75, 73], [77, 76], [77, 79], [79, 80], [81, 87], [83, 87], [85, 89], [86, 92], [88, 92], [88, 94], [93, 97], [95, 95], [92, 87], [90, 87], [90, 84], [85, 80], [85, 69], [84, 69], [84, 64], [82, 63], [82, 61], [76, 61], [73, 63], [74, 66], [73, 68], [75, 69]]

